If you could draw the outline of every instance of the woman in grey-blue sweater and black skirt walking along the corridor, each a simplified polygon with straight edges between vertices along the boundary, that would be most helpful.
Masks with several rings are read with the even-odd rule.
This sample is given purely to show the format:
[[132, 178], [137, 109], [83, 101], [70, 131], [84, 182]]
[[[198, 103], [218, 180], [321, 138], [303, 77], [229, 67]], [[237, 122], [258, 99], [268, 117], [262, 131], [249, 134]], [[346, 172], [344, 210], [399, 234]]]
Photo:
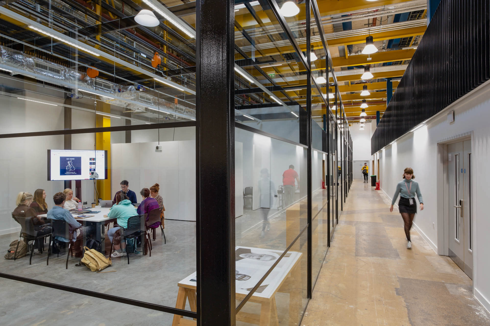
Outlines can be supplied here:
[[392, 199], [392, 206], [390, 211], [393, 211], [393, 205], [400, 194], [400, 201], [398, 202], [398, 210], [405, 223], [405, 235], [407, 236], [407, 249], [412, 249], [412, 242], [410, 241], [410, 229], [412, 229], [412, 222], [414, 220], [415, 213], [417, 213], [417, 204], [415, 203], [415, 195], [417, 195], [418, 202], [420, 203], [420, 210], [424, 209], [424, 203], [422, 194], [420, 193], [420, 187], [417, 181], [414, 181], [414, 170], [411, 167], [407, 167], [403, 171], [403, 180], [396, 185], [395, 194]]

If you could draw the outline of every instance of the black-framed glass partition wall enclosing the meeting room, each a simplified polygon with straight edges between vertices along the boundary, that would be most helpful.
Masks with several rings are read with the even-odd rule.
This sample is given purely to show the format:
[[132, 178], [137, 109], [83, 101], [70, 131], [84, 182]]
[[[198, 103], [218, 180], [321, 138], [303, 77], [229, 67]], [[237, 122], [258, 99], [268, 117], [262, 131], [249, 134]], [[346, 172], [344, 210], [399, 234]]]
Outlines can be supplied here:
[[[317, 2], [284, 2], [0, 7], [0, 242], [28, 250], [0, 276], [163, 325], [298, 325], [351, 140]], [[91, 243], [117, 273], [79, 264]]]

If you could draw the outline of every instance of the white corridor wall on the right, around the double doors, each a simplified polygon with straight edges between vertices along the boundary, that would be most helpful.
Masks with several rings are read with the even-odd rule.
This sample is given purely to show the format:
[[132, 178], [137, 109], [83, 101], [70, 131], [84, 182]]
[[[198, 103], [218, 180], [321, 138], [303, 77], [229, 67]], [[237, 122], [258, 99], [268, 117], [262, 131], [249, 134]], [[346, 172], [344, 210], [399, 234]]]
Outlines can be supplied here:
[[[438, 189], [438, 143], [456, 139], [465, 134], [472, 134], [472, 184], [473, 210], [473, 286], [475, 296], [490, 310], [490, 219], [488, 218], [488, 185], [490, 174], [490, 83], [478, 87], [451, 107], [446, 108], [424, 127], [409, 133], [397, 140], [393, 145], [374, 155], [380, 160], [381, 188], [390, 197], [396, 184], [401, 180], [403, 169], [412, 167], [424, 199], [424, 210], [419, 211], [414, 224], [432, 248], [442, 253], [444, 248], [438, 248], [443, 243], [443, 226], [438, 221], [438, 199], [441, 191]], [[448, 110], [455, 111], [455, 121], [446, 122]], [[443, 196], [442, 196], [443, 198]]]

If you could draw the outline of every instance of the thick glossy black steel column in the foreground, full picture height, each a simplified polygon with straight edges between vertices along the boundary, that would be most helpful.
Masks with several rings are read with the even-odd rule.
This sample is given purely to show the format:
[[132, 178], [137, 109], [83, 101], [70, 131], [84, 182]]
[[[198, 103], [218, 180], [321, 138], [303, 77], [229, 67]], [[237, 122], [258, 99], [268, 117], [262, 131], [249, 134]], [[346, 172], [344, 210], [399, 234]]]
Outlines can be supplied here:
[[198, 325], [235, 325], [235, 1], [196, 1]]

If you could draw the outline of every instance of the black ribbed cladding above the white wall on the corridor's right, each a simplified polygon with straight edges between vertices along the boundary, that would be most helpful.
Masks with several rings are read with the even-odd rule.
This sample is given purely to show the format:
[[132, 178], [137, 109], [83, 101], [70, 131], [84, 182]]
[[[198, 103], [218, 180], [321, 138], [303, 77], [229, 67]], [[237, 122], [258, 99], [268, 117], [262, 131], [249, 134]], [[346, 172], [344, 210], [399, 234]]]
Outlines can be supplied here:
[[490, 79], [490, 0], [441, 0], [371, 138], [371, 154]]

